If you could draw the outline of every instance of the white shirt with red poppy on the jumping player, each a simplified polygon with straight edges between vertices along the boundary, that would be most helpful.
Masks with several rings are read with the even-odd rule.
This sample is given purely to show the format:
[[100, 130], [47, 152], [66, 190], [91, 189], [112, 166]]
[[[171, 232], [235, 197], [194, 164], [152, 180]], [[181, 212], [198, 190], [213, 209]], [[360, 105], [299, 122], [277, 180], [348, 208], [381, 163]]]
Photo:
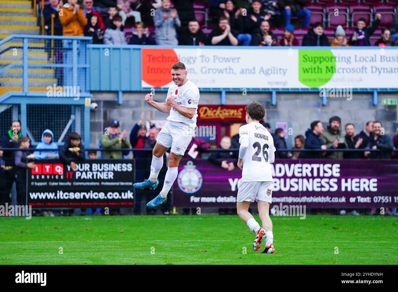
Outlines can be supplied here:
[[195, 114], [193, 115], [193, 118], [189, 119], [180, 114], [174, 108], [172, 108], [170, 110], [170, 116], [168, 116], [167, 119], [174, 122], [182, 122], [185, 124], [196, 126], [196, 118], [198, 116], [197, 108], [199, 103], [198, 87], [195, 84], [193, 84], [192, 81], [189, 80], [182, 86], [177, 86], [176, 84], [173, 84], [169, 87], [166, 99], [169, 96], [174, 97], [174, 100], [176, 101], [177, 104], [184, 106], [186, 108], [196, 108], [196, 110]]

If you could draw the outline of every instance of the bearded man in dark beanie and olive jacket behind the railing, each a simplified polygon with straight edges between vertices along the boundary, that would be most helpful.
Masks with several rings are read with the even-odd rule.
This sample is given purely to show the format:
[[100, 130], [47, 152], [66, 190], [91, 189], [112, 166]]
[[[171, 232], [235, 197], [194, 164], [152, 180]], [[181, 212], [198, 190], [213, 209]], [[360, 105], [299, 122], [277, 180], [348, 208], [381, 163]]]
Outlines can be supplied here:
[[[326, 144], [327, 148], [346, 148], [344, 144], [344, 137], [341, 135], [340, 129], [341, 118], [338, 116], [332, 116], [329, 119], [329, 125], [326, 131], [320, 135], [320, 139]], [[343, 159], [343, 152], [328, 152], [326, 153], [328, 158]]]

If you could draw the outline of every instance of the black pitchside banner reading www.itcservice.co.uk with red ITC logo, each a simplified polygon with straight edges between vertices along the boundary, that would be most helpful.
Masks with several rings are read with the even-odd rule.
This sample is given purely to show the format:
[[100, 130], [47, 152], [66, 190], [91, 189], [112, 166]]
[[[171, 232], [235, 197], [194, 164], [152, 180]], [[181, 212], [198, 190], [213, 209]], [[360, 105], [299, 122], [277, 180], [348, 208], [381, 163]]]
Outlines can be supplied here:
[[56, 160], [35, 161], [27, 170], [27, 202], [32, 207], [132, 207], [134, 161], [86, 160], [78, 170]]

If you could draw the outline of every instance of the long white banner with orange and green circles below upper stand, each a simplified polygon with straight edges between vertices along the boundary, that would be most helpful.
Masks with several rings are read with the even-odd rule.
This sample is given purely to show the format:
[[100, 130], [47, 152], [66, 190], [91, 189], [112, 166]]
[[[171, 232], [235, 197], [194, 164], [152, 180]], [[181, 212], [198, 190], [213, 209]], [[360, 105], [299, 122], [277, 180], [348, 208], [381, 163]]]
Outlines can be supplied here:
[[143, 48], [142, 87], [168, 87], [185, 64], [199, 88], [398, 87], [398, 49]]

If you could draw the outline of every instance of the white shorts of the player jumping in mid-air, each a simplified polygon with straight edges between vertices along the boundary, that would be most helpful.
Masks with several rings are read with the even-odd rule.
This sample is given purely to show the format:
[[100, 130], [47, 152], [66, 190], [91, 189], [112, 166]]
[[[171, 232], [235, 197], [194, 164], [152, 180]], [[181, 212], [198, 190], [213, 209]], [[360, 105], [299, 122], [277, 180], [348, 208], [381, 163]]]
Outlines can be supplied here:
[[182, 156], [191, 143], [194, 131], [195, 126], [169, 120], [160, 130], [156, 142], [164, 147], [171, 147], [172, 153]]

